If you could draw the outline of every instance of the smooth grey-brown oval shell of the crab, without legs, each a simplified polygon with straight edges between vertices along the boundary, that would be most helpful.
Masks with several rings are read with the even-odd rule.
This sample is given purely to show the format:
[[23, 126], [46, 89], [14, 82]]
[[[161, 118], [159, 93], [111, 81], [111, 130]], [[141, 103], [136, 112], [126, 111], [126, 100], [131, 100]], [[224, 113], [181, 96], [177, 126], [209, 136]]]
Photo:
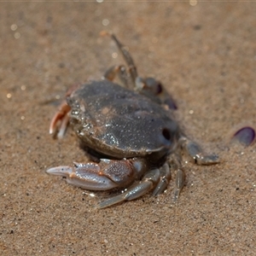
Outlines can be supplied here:
[[157, 162], [177, 141], [170, 111], [108, 80], [82, 85], [67, 102], [73, 130], [99, 153], [117, 159], [150, 155]]

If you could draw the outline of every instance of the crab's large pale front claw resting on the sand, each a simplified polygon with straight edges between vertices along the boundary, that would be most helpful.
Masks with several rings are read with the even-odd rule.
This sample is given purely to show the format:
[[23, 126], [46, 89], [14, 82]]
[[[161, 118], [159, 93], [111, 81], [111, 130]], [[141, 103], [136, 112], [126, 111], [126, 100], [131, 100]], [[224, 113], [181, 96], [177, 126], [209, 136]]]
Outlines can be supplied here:
[[46, 172], [67, 177], [67, 183], [89, 190], [108, 190], [124, 187], [147, 171], [144, 160], [107, 160], [99, 163], [74, 163], [74, 166], [57, 166]]

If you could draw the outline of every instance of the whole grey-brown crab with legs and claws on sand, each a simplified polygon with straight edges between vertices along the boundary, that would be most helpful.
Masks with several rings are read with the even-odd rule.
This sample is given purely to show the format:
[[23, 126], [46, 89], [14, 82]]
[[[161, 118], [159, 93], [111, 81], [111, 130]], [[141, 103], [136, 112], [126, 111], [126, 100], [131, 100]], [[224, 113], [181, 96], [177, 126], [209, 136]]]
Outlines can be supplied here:
[[[113, 39], [128, 68], [110, 67], [102, 80], [71, 88], [49, 127], [49, 133], [63, 137], [70, 123], [93, 158], [46, 172], [66, 177], [67, 183], [83, 189], [124, 189], [96, 206], [104, 208], [149, 191], [159, 195], [175, 170], [177, 201], [185, 180], [182, 153], [198, 165], [216, 164], [218, 155], [204, 153], [185, 136], [173, 115], [176, 105], [163, 85], [139, 77], [128, 49], [112, 33], [104, 34]], [[119, 84], [113, 82], [117, 78]]]

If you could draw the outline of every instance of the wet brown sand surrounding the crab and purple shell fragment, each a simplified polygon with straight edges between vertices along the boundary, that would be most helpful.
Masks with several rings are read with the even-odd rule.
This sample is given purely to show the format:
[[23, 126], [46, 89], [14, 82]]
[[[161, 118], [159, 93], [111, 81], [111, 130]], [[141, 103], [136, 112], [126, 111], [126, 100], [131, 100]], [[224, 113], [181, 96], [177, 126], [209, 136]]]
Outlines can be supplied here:
[[[256, 4], [106, 2], [0, 5], [0, 254], [253, 255], [255, 144], [228, 142], [256, 126]], [[49, 136], [49, 121], [70, 85], [124, 62], [102, 30], [129, 46], [141, 76], [165, 84], [189, 137], [221, 158], [184, 167], [177, 204], [172, 182], [99, 211], [108, 193], [45, 173], [86, 160], [71, 130]]]

